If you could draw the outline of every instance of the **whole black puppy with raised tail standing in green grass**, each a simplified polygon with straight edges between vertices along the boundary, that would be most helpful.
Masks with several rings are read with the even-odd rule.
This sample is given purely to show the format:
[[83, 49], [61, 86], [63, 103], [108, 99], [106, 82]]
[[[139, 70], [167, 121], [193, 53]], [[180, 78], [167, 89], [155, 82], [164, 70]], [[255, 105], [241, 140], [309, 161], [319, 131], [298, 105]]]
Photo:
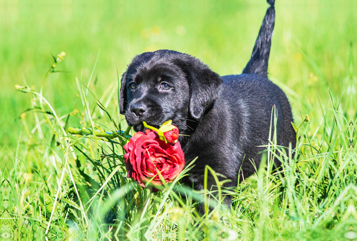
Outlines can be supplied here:
[[[135, 131], [144, 130], [143, 121], [157, 126], [171, 119], [180, 134], [188, 135], [178, 141], [186, 164], [198, 156], [189, 177], [198, 190], [203, 189], [206, 165], [232, 180], [226, 187], [236, 186], [239, 175], [242, 181], [255, 172], [250, 160], [259, 167], [258, 152], [264, 148], [258, 146], [268, 143], [273, 105], [277, 144], [295, 147], [290, 103], [267, 78], [275, 21], [274, 1], [268, 3], [271, 6], [241, 75], [220, 76], [197, 58], [172, 50], [137, 55], [122, 75], [120, 113]], [[209, 176], [208, 187], [212, 185], [216, 184]]]

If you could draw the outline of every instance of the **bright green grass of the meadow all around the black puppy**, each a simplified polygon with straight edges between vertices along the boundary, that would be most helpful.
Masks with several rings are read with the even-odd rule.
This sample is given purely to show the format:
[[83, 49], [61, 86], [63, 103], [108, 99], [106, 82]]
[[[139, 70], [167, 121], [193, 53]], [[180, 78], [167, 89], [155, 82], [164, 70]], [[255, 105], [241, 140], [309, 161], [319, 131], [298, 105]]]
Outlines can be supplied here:
[[[69, 127], [86, 126], [92, 130], [122, 130], [133, 134], [117, 114], [117, 75], [125, 68], [122, 64], [144, 48], [174, 48], [200, 57], [220, 74], [240, 73], [266, 9], [265, 5], [254, 7], [257, 3], [260, 4], [256, 1], [249, 7], [245, 3], [209, 2], [198, 11], [197, 3], [191, 3], [187, 8], [178, 6], [174, 14], [161, 11], [175, 6], [165, 3], [144, 4], [136, 10], [137, 3], [108, 4], [90, 16], [90, 10], [82, 8], [82, 21], [104, 36], [96, 37], [95, 41], [86, 39], [89, 27], [77, 35], [65, 27], [72, 24], [73, 31], [78, 31], [80, 26], [79, 19], [73, 17], [79, 10], [66, 3], [61, 9], [65, 23], [51, 18], [59, 16], [55, 6], [34, 10], [37, 14], [28, 19], [27, 26], [37, 32], [24, 29], [24, 17], [10, 18], [7, 26], [2, 25], [5, 32], [11, 24], [20, 23], [19, 30], [10, 34], [14, 40], [6, 42], [9, 37], [1, 46], [3, 50], [23, 51], [6, 55], [4, 50], [1, 55], [5, 66], [1, 72], [5, 80], [5, 90], [1, 90], [5, 109], [0, 117], [4, 127], [0, 134], [1, 239], [356, 239], [357, 74], [356, 48], [350, 42], [356, 42], [357, 34], [351, 28], [354, 15], [348, 15], [353, 9], [352, 2], [351, 6], [350, 3], [334, 6], [331, 1], [293, 7], [277, 2], [270, 76], [290, 98], [295, 124], [302, 124], [297, 133], [297, 146], [291, 148], [298, 154], [292, 158], [291, 149], [276, 146], [271, 133], [264, 164], [256, 175], [234, 190], [222, 191], [221, 195], [210, 190], [198, 193], [179, 184], [182, 173], [166, 190], [152, 194], [126, 178], [122, 160], [122, 145], [127, 141], [124, 133], [111, 139], [113, 143], [97, 136], [72, 136], [67, 132]], [[154, 12], [147, 13], [148, 8]], [[116, 16], [112, 9], [122, 9], [124, 13]], [[333, 9], [340, 11], [332, 16]], [[9, 5], [9, 11], [17, 11], [19, 16], [26, 16], [25, 10]], [[188, 20], [184, 17], [193, 16], [193, 12], [198, 17]], [[138, 13], [144, 14], [142, 19], [146, 21], [127, 20]], [[160, 14], [159, 20], [155, 14]], [[181, 23], [170, 21], [172, 17]], [[35, 29], [32, 23], [41, 25], [46, 21], [49, 23], [44, 29], [49, 31], [41, 35], [40, 28]], [[189, 21], [197, 25], [192, 26]], [[117, 25], [108, 23], [114, 22], [125, 24], [113, 32]], [[247, 23], [240, 27], [247, 37], [238, 39], [233, 31], [237, 22]], [[151, 28], [157, 25], [161, 27], [160, 33], [157, 28]], [[70, 34], [58, 35], [49, 26]], [[183, 26], [186, 35], [181, 36], [183, 30], [177, 26]], [[149, 32], [149, 38], [139, 37], [140, 33], [146, 37], [143, 29]], [[170, 29], [175, 32], [171, 33]], [[120, 46], [127, 44], [134, 49], [105, 45], [111, 42], [110, 36], [119, 36], [120, 31], [124, 36], [119, 38]], [[221, 35], [221, 31], [229, 36]], [[310, 41], [311, 33], [313, 41]], [[16, 34], [28, 41], [27, 49], [21, 47], [25, 40], [14, 38]], [[55, 63], [56, 67], [52, 67], [49, 48], [36, 47], [39, 39], [36, 34], [43, 37], [42, 42], [56, 45], [56, 49], [50, 47], [51, 52], [67, 53], [64, 60]], [[159, 34], [160, 41], [156, 41], [155, 34]], [[62, 42], [52, 42], [55, 37]], [[192, 40], [196, 44], [190, 44]], [[89, 44], [96, 47], [95, 52]], [[99, 58], [97, 46], [104, 46]], [[109, 54], [111, 49], [120, 49], [120, 60]], [[246, 59], [232, 57], [232, 49], [243, 49], [240, 55]], [[40, 50], [42, 57], [34, 54]], [[88, 52], [92, 54], [87, 55]], [[47, 63], [43, 56], [49, 56]], [[84, 57], [76, 59], [77, 56]], [[24, 67], [26, 63], [30, 67]], [[21, 69], [24, 77], [19, 74]], [[58, 70], [71, 73], [56, 73]], [[18, 84], [17, 91], [23, 93], [9, 91], [15, 84]], [[310, 117], [308, 122], [304, 122], [306, 114]], [[272, 125], [274, 122], [272, 114]], [[271, 172], [274, 159], [283, 163], [281, 173]], [[207, 168], [207, 173], [210, 172]], [[227, 193], [234, 197], [231, 210], [221, 204]], [[198, 202], [211, 205], [213, 211], [198, 214]]]

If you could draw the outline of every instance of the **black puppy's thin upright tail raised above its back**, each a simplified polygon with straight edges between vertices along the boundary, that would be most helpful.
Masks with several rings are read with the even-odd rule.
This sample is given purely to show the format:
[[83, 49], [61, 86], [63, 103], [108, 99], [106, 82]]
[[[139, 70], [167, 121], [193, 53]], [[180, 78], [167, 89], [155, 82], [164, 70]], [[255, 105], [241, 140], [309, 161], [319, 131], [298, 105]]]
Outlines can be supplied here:
[[271, 6], [268, 8], [262, 25], [259, 30], [257, 40], [253, 48], [252, 56], [245, 66], [242, 74], [268, 75], [268, 60], [270, 54], [271, 37], [273, 35], [275, 23], [275, 0], [267, 0]]

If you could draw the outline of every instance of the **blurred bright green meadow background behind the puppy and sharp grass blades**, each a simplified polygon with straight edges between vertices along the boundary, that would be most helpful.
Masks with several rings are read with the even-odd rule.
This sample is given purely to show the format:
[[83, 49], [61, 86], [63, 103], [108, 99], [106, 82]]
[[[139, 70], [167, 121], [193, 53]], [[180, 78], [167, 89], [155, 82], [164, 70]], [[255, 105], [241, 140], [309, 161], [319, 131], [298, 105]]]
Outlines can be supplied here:
[[[116, 82], [116, 66], [121, 74], [144, 51], [174, 49], [220, 75], [240, 74], [267, 7], [265, 0], [0, 1], [0, 167], [12, 165], [11, 153], [24, 133], [18, 114], [31, 106], [30, 96], [14, 86], [25, 79], [39, 90], [51, 54], [66, 52], [57, 69], [70, 71], [52, 74], [44, 89], [62, 115], [76, 105], [75, 77], [82, 72], [88, 81], [99, 49], [94, 72], [99, 96]], [[315, 102], [317, 95], [327, 100], [326, 84], [336, 95], [345, 87], [350, 43], [357, 37], [356, 7], [355, 0], [276, 0], [268, 71], [287, 92], [299, 122], [307, 101]]]

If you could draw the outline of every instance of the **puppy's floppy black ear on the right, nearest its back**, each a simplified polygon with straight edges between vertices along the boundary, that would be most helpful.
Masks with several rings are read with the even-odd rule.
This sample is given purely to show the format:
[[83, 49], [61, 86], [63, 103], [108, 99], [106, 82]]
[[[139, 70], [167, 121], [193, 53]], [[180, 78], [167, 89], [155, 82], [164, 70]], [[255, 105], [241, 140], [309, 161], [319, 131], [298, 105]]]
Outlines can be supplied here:
[[198, 59], [183, 61], [180, 65], [190, 84], [191, 116], [199, 120], [207, 108], [217, 100], [223, 81], [217, 73]]

